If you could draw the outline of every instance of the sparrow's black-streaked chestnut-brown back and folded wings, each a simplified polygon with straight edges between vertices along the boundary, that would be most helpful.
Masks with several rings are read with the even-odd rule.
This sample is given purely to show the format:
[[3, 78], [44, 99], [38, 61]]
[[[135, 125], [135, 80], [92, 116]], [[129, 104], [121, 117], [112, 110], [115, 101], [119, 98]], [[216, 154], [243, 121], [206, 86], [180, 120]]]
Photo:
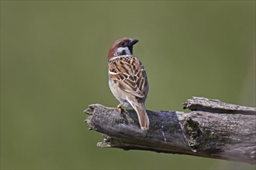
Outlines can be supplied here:
[[118, 87], [135, 97], [147, 96], [147, 73], [134, 56], [125, 56], [109, 61], [109, 78], [116, 80]]

